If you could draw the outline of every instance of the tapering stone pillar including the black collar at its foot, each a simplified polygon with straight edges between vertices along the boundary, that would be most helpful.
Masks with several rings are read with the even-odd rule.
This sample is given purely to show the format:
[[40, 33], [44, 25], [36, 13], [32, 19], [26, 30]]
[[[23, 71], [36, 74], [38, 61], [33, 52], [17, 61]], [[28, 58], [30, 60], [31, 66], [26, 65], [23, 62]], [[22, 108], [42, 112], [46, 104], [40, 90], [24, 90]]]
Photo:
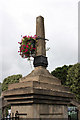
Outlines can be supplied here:
[[36, 35], [39, 37], [36, 47], [36, 57], [34, 57], [34, 67], [42, 66], [47, 67], [46, 45], [45, 45], [45, 30], [44, 18], [39, 16], [36, 18]]

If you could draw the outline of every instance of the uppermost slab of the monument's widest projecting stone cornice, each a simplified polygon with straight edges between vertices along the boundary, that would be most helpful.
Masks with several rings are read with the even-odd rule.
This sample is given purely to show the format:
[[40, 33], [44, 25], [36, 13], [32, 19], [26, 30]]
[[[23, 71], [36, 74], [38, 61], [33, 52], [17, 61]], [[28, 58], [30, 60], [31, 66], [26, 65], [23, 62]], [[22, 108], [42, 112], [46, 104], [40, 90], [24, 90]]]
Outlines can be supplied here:
[[55, 90], [48, 89], [38, 89], [38, 88], [19, 88], [13, 90], [7, 90], [3, 92], [4, 97], [12, 97], [12, 96], [21, 96], [21, 95], [30, 95], [30, 94], [38, 94], [38, 95], [49, 95], [49, 96], [60, 96], [60, 97], [69, 97], [72, 98], [73, 94], [68, 92], [61, 92]]

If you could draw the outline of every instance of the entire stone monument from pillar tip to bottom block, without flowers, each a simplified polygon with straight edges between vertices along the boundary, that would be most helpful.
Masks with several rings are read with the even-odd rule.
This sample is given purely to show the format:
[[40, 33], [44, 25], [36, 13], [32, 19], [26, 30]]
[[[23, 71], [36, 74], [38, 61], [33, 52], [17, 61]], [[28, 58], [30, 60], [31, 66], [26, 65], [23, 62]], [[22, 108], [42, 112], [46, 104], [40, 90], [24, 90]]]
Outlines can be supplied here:
[[19, 83], [8, 86], [3, 97], [11, 104], [11, 114], [18, 111], [19, 118], [68, 118], [67, 106], [73, 99], [69, 88], [52, 76], [46, 69], [48, 62], [45, 50], [44, 18], [36, 18], [37, 53], [34, 70], [20, 79]]

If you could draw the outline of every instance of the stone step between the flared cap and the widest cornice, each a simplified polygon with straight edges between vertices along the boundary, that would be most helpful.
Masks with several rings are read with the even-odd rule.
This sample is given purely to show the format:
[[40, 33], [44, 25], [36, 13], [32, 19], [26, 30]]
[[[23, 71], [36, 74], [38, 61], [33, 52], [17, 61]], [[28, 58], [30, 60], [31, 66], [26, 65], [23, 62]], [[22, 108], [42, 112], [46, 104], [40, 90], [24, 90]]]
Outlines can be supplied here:
[[50, 90], [70, 93], [70, 90], [68, 87], [64, 87], [62, 85], [48, 84], [48, 83], [43, 83], [38, 81], [27, 81], [22, 83], [10, 84], [8, 86], [8, 90], [18, 89], [18, 88], [27, 88], [27, 87], [38, 88], [38, 89], [50, 89]]

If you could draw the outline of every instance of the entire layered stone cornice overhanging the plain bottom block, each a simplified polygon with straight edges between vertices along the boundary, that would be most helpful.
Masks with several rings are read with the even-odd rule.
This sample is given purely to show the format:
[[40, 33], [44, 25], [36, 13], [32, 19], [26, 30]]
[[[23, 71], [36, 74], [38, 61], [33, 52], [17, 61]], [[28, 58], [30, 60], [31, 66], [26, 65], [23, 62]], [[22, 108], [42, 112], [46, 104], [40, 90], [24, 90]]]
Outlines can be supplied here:
[[5, 100], [11, 104], [43, 103], [43, 104], [68, 104], [73, 99], [73, 94], [68, 91], [44, 89], [42, 87], [25, 87], [10, 89], [3, 92]]

